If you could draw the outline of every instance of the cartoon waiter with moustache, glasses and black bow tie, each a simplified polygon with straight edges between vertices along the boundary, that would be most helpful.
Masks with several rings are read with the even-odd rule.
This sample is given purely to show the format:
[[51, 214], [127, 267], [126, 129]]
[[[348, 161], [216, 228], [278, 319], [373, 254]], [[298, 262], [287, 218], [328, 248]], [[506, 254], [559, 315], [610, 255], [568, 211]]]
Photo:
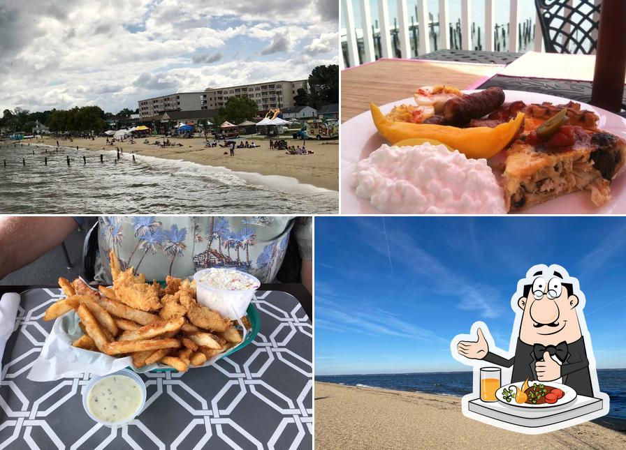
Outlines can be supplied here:
[[588, 350], [578, 317], [581, 301], [572, 280], [565, 269], [555, 265], [535, 266], [529, 274], [521, 280], [521, 295], [517, 299], [517, 306], [523, 312], [514, 357], [491, 352], [480, 328], [476, 341], [458, 343], [458, 353], [497, 366], [513, 366], [511, 382], [523, 382], [527, 378], [553, 381], [592, 397]]

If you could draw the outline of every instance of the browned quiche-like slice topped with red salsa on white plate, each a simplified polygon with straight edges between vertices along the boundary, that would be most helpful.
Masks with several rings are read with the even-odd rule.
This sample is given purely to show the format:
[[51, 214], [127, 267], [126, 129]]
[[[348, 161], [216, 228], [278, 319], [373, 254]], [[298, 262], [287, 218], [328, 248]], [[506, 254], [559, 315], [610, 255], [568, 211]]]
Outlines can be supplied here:
[[611, 200], [611, 180], [626, 162], [626, 142], [599, 130], [561, 126], [546, 141], [531, 132], [507, 150], [503, 186], [509, 211], [578, 190], [599, 207]]

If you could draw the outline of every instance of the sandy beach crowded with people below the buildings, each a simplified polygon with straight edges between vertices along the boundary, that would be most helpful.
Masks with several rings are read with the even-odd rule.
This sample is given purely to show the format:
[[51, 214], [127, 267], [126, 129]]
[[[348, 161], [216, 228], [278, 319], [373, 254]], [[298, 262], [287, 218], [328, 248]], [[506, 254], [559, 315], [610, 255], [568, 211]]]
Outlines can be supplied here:
[[[136, 140], [136, 144], [129, 141], [115, 142], [115, 146], [122, 147], [124, 157], [131, 158], [131, 152], [138, 155], [154, 156], [156, 158], [180, 159], [193, 163], [227, 167], [237, 172], [256, 172], [263, 175], [282, 175], [293, 177], [300, 183], [312, 184], [319, 188], [339, 190], [339, 143], [337, 140], [317, 141], [307, 140], [307, 150], [314, 151], [312, 155], [286, 155], [284, 151], [270, 151], [269, 140], [259, 140], [257, 137], [245, 137], [244, 142], [254, 141], [261, 144], [256, 149], [236, 149], [235, 156], [224, 155], [228, 149], [223, 147], [204, 148], [204, 137], [180, 139], [170, 137], [170, 142], [181, 143], [183, 147], [173, 146], [161, 149], [157, 145], [143, 144], [143, 138]], [[150, 142], [162, 140], [162, 137], [150, 137]], [[45, 137], [31, 143], [56, 145], [56, 138]], [[210, 139], [212, 142], [212, 139]], [[239, 144], [239, 141], [237, 141]], [[302, 146], [302, 140], [287, 140], [287, 144]], [[78, 147], [94, 150], [115, 150], [106, 144], [105, 137], [96, 137], [96, 140], [73, 138], [73, 142], [59, 140], [62, 147]]]

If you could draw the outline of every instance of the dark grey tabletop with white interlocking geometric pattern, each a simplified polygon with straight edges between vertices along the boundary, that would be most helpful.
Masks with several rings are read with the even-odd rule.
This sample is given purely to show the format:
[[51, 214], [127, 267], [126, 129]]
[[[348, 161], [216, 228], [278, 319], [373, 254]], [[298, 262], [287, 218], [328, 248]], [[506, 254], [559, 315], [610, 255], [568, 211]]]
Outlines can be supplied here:
[[0, 449], [312, 448], [312, 325], [290, 294], [257, 292], [259, 335], [214, 365], [140, 374], [146, 405], [122, 428], [83, 410], [89, 374], [27, 380], [52, 329], [43, 313], [59, 297], [59, 289], [22, 292], [2, 358]]

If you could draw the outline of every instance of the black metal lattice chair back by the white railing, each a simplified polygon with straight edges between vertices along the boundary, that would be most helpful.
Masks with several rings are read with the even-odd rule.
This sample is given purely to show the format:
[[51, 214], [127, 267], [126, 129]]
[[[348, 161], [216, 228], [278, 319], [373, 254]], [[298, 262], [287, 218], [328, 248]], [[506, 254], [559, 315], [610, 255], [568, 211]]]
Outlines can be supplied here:
[[[592, 54], [596, 50], [600, 3], [593, 0], [534, 0], [548, 53]], [[597, 20], [594, 20], [597, 17]], [[569, 27], [569, 30], [567, 30]]]

